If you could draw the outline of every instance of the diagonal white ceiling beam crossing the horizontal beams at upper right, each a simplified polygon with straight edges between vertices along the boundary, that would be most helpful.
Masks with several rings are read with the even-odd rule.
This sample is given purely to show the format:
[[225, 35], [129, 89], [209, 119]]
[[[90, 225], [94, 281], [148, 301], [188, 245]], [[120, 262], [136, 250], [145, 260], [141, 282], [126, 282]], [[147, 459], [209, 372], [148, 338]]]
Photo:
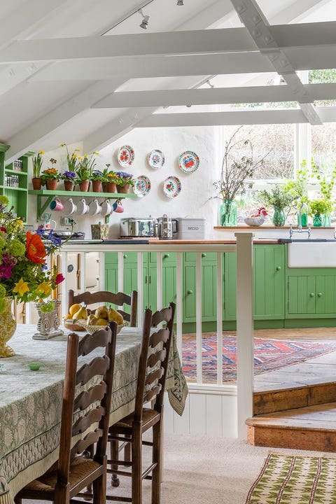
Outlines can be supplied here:
[[[321, 125], [321, 119], [318, 117], [318, 113], [316, 113], [316, 109], [312, 104], [314, 99], [311, 98], [309, 91], [304, 87], [299, 76], [297, 76], [297, 73], [295, 73], [290, 60], [281, 50], [284, 39], [279, 41], [279, 36], [281, 34], [279, 27], [276, 36], [276, 34], [274, 35], [274, 31], [276, 33], [276, 27], [269, 26], [269, 22], [263, 15], [260, 7], [258, 6], [258, 3], [255, 0], [231, 1], [233, 7], [237, 11], [237, 14], [239, 15], [241, 22], [243, 22], [246, 29], [248, 29], [249, 34], [253, 38], [255, 44], [258, 46], [260, 52], [262, 52], [262, 54], [269, 58], [269, 61], [274, 66], [274, 69], [279, 73], [279, 75], [283, 76], [283, 79], [286, 81], [288, 88], [291, 90], [291, 92], [293, 92], [295, 101], [299, 102], [299, 105], [301, 103], [304, 103], [303, 106], [300, 106], [302, 112], [304, 113], [304, 116], [306, 116], [309, 120], [309, 123], [311, 125]], [[302, 38], [304, 38], [304, 36], [307, 36], [307, 27], [311, 27], [311, 25], [314, 26], [314, 23], [309, 23], [308, 25], [281, 25], [281, 29], [283, 29], [283, 31], [286, 31], [288, 38], [290, 38], [291, 36], [291, 40], [295, 43], [294, 45], [297, 45], [299, 38], [297, 38], [296, 32], [294, 34], [293, 30], [287, 30], [288, 26], [295, 26], [295, 29], [297, 29], [297, 31], [300, 32]], [[318, 25], [321, 25], [321, 23], [318, 23]], [[330, 24], [328, 22], [323, 23], [323, 25], [328, 25], [328, 27], [325, 28], [325, 31], [327, 31], [328, 34], [326, 37], [321, 37], [322, 41], [325, 42], [328, 40], [328, 43], [330, 43], [332, 38], [335, 38], [335, 33], [330, 33]], [[306, 31], [302, 30], [302, 26], [305, 27]], [[311, 27], [311, 29], [314, 30], [313, 39], [314, 41], [316, 41], [316, 27]], [[319, 27], [319, 31], [321, 32], [321, 26]], [[313, 45], [309, 43], [309, 41], [311, 41], [311, 38], [307, 39], [307, 45]], [[324, 43], [321, 44], [321, 40], [318, 39], [317, 45], [324, 45]]]

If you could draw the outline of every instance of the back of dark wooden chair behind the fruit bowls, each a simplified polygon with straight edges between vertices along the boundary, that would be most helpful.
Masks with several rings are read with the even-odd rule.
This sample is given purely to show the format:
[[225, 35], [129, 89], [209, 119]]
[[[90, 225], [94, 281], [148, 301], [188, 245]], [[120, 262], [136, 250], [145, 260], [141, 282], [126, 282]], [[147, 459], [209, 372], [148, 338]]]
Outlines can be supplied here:
[[94, 312], [90, 310], [91, 304], [97, 303], [111, 303], [116, 304], [118, 307], [123, 307], [127, 304], [130, 306], [130, 314], [124, 311], [124, 309], [118, 309], [120, 314], [123, 315], [125, 321], [130, 323], [131, 327], [137, 325], [137, 309], [138, 309], [138, 293], [137, 290], [132, 290], [131, 295], [125, 293], [111, 293], [109, 290], [100, 290], [95, 293], [85, 292], [81, 294], [74, 295], [73, 290], [68, 292], [68, 309], [72, 304], [84, 303], [88, 307], [88, 312]]

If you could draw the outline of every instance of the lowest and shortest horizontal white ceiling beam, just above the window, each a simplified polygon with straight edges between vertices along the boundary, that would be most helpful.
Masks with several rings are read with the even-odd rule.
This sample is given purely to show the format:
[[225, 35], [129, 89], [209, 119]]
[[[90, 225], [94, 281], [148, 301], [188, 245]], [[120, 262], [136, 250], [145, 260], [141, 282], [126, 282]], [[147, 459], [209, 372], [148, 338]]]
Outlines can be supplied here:
[[285, 111], [239, 109], [235, 111], [209, 113], [155, 113], [151, 117], [139, 121], [137, 127], [223, 126], [307, 122], [307, 118], [300, 109], [289, 109]]

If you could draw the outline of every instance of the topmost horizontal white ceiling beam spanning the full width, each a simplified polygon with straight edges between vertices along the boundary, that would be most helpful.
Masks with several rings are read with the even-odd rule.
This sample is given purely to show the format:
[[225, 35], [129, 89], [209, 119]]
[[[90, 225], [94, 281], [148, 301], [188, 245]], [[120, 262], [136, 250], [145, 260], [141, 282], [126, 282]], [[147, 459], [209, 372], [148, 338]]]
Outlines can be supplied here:
[[[244, 6], [246, 6], [252, 0], [244, 1]], [[242, 8], [242, 0], [232, 0], [232, 3], [237, 4], [237, 8]], [[241, 10], [239, 15], [244, 13], [246, 10]], [[246, 14], [248, 15], [248, 12]], [[254, 41], [251, 40], [246, 28], [15, 41], [6, 50], [0, 51], [0, 62], [5, 64], [98, 57], [254, 52], [257, 50], [256, 41], [258, 41], [258, 47], [265, 51], [274, 48], [336, 45], [336, 22], [334, 21], [268, 26], [267, 34], [265, 34], [265, 29], [260, 31], [260, 21], [254, 22], [254, 25], [255, 28], [251, 29]]]

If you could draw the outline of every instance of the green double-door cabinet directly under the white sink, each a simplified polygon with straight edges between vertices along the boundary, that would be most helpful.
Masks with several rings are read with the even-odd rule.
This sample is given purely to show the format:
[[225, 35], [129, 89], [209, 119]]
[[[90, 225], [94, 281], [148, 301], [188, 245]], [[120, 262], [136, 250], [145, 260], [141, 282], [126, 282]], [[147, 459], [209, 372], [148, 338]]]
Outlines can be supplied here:
[[334, 268], [288, 268], [287, 318], [335, 318]]

